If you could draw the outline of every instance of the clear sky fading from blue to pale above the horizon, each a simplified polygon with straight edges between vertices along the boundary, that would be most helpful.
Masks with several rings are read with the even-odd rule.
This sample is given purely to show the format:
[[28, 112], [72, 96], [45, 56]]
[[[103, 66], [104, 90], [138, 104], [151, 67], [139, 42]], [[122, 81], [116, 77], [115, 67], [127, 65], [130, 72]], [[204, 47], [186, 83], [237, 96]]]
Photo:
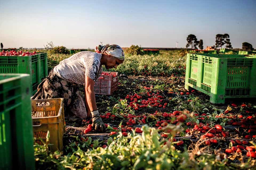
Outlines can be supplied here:
[[103, 44], [186, 46], [186, 37], [215, 44], [228, 33], [231, 45], [256, 48], [256, 1], [11, 1], [0, 0], [4, 47], [67, 48]]

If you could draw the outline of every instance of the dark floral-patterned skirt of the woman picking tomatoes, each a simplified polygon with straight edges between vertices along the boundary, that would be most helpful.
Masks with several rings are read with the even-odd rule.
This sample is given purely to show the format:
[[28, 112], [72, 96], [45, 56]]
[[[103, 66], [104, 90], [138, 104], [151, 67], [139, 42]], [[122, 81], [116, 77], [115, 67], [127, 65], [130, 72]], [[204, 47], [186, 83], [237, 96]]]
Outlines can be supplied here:
[[79, 85], [59, 78], [53, 73], [53, 70], [51, 70], [48, 77], [38, 85], [37, 92], [31, 99], [52, 98], [64, 99], [65, 116], [79, 117], [82, 119], [87, 117], [86, 106], [79, 92]]

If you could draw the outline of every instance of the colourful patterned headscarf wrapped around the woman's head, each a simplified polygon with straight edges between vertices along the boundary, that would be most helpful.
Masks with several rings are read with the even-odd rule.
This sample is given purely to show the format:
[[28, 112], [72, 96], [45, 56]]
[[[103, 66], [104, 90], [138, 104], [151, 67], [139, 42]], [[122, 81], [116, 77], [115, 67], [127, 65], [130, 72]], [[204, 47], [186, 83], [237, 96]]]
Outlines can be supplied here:
[[115, 58], [118, 58], [120, 60], [125, 60], [125, 54], [123, 52], [123, 49], [119, 45], [98, 45], [95, 47], [96, 53], [107, 53]]

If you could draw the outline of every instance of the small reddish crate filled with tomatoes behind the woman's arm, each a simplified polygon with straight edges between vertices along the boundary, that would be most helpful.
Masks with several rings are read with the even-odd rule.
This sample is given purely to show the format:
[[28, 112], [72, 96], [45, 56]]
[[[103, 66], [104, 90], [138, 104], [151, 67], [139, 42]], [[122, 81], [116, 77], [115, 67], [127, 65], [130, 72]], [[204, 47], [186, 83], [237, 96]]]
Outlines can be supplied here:
[[[103, 75], [108, 73], [110, 75]], [[118, 73], [103, 71], [99, 79], [95, 82], [94, 93], [99, 95], [111, 95], [118, 87]]]

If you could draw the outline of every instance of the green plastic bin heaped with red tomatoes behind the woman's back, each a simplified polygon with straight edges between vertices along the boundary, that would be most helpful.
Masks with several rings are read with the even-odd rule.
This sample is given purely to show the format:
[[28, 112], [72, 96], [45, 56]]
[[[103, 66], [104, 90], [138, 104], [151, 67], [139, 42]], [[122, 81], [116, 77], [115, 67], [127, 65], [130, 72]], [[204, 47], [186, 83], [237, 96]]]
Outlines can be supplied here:
[[38, 84], [47, 77], [47, 53], [33, 56], [0, 56], [1, 73], [26, 73], [31, 75], [30, 94], [37, 92]]

